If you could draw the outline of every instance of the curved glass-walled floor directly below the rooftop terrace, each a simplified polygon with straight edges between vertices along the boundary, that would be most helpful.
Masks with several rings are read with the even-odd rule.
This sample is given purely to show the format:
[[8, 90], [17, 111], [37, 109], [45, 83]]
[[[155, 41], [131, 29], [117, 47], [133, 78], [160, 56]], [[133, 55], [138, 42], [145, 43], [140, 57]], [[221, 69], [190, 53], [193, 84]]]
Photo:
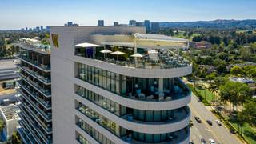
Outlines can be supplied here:
[[77, 65], [77, 78], [126, 98], [168, 101], [190, 94], [179, 78], [133, 78], [81, 63]]

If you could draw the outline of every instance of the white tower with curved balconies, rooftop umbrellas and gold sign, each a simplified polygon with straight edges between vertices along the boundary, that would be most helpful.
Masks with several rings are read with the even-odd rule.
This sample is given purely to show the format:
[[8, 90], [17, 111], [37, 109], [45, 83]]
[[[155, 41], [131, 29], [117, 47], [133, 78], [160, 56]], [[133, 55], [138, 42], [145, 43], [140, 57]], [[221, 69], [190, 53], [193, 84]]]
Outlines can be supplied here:
[[54, 143], [189, 143], [186, 40], [136, 26], [52, 26], [50, 36]]

